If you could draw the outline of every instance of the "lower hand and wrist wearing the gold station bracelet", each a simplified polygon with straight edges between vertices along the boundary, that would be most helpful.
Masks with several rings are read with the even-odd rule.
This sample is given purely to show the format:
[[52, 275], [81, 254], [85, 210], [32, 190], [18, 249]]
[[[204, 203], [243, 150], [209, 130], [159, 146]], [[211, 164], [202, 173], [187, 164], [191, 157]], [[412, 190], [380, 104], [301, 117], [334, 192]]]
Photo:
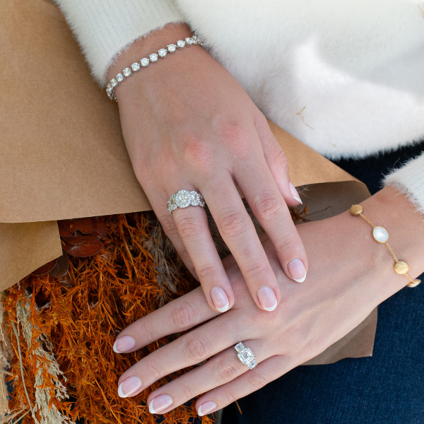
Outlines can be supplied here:
[[[424, 216], [392, 187], [362, 205], [372, 223], [387, 229], [391, 249], [409, 265], [409, 275], [423, 273]], [[394, 271], [389, 249], [375, 242], [370, 225], [349, 211], [298, 225], [298, 231], [310, 261], [303, 284], [285, 276], [271, 242], [262, 240], [281, 290], [273, 312], [253, 307], [242, 273], [228, 257], [223, 263], [235, 292], [231, 310], [213, 312], [197, 288], [124, 329], [114, 345], [120, 353], [211, 319], [126, 370], [119, 377], [119, 394], [134, 396], [170, 372], [208, 359], [153, 391], [148, 404], [152, 413], [167, 413], [203, 394], [196, 409], [199, 415], [212, 413], [314, 358], [398, 290], [421, 289], [405, 288], [409, 281]], [[253, 370], [237, 359], [233, 346], [240, 341], [257, 357]]]

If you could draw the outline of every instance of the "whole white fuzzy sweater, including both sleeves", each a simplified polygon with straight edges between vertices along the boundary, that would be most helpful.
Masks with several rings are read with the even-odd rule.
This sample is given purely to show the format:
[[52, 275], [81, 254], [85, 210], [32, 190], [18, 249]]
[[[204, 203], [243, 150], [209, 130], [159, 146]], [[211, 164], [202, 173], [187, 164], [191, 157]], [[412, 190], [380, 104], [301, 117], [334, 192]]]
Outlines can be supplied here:
[[[329, 158], [424, 140], [423, 0], [56, 2], [102, 85], [131, 42], [186, 22], [266, 117]], [[424, 213], [424, 154], [385, 184]]]

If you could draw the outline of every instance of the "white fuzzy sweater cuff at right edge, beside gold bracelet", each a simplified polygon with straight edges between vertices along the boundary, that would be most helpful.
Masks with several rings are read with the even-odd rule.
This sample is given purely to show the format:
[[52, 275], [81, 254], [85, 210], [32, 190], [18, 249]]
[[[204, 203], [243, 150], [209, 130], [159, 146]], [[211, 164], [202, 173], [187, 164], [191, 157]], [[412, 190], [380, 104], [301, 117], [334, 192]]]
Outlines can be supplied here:
[[424, 152], [384, 177], [384, 187], [389, 185], [406, 194], [416, 210], [424, 215]]

